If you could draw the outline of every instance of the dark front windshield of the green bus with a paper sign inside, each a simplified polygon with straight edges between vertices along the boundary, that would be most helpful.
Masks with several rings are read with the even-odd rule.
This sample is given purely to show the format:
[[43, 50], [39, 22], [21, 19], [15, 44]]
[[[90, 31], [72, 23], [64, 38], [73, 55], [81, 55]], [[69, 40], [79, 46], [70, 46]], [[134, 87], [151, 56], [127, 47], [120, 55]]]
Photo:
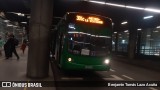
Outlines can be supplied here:
[[111, 37], [83, 30], [68, 31], [68, 51], [72, 54], [106, 56], [110, 53]]

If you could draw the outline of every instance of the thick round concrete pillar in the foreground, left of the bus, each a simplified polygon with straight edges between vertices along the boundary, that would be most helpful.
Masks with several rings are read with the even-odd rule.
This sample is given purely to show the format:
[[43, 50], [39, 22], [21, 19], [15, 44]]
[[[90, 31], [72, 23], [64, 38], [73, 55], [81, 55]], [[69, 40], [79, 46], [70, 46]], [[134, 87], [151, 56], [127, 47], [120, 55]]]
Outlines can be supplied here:
[[27, 76], [44, 78], [49, 71], [49, 29], [53, 0], [31, 0]]

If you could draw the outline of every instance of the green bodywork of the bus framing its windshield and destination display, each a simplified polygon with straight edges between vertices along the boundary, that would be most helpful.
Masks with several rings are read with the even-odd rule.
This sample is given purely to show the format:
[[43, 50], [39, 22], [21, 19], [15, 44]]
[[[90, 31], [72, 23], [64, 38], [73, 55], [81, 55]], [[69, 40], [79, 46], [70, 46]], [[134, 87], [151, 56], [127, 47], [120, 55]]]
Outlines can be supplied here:
[[[67, 15], [65, 19], [65, 26], [60, 26], [60, 32], [63, 33], [66, 37], [68, 34], [68, 24], [69, 23], [76, 23], [76, 30], [78, 32], [84, 32], [84, 33], [90, 33], [93, 35], [102, 35], [102, 36], [109, 36], [112, 37], [112, 21], [109, 18], [99, 17], [102, 20], [105, 20], [104, 25], [97, 25], [97, 24], [89, 24], [89, 23], [83, 23], [83, 22], [76, 22], [75, 21], [75, 15], [86, 15], [86, 16], [92, 16], [91, 14], [83, 14], [83, 13], [70, 13]], [[94, 16], [94, 15], [93, 15]], [[110, 42], [112, 43], [112, 42]], [[110, 48], [111, 49], [111, 48]], [[60, 51], [60, 67], [63, 70], [96, 70], [96, 71], [102, 71], [102, 70], [109, 70], [110, 64], [107, 65], [104, 63], [105, 59], [110, 59], [111, 62], [111, 54], [108, 54], [105, 57], [101, 56], [85, 56], [85, 55], [78, 55], [68, 52], [68, 38], [64, 39], [63, 48]], [[72, 61], [69, 62], [68, 58], [71, 58]]]

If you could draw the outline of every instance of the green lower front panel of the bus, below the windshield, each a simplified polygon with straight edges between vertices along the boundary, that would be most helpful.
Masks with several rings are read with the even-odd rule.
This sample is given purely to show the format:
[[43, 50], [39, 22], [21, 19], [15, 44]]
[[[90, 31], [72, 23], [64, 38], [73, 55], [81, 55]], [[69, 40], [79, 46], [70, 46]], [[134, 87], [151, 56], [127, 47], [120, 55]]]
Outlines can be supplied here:
[[[65, 40], [66, 41], [66, 40]], [[65, 42], [66, 43], [66, 42]], [[68, 62], [68, 58], [72, 58], [72, 62]], [[109, 70], [110, 65], [104, 63], [105, 59], [111, 59], [111, 55], [108, 57], [98, 56], [84, 56], [69, 53], [67, 51], [67, 45], [64, 45], [61, 55], [61, 68], [63, 70]]]

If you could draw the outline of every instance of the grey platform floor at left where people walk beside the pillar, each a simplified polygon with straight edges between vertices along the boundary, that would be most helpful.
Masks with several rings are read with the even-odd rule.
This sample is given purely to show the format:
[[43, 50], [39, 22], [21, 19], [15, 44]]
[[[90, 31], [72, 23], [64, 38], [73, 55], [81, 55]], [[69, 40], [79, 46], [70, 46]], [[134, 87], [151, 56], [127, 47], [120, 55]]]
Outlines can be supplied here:
[[[17, 53], [20, 59], [17, 60], [16, 56], [13, 54], [12, 58], [5, 59], [4, 51], [2, 51], [2, 56], [0, 57], [0, 81], [54, 81], [53, 72], [50, 68], [49, 77], [44, 79], [31, 79], [26, 76], [27, 72], [27, 56], [28, 48], [26, 48], [23, 54], [20, 48], [17, 48]], [[53, 83], [54, 84], [54, 83]], [[0, 90], [55, 90], [55, 87], [0, 87]]]

